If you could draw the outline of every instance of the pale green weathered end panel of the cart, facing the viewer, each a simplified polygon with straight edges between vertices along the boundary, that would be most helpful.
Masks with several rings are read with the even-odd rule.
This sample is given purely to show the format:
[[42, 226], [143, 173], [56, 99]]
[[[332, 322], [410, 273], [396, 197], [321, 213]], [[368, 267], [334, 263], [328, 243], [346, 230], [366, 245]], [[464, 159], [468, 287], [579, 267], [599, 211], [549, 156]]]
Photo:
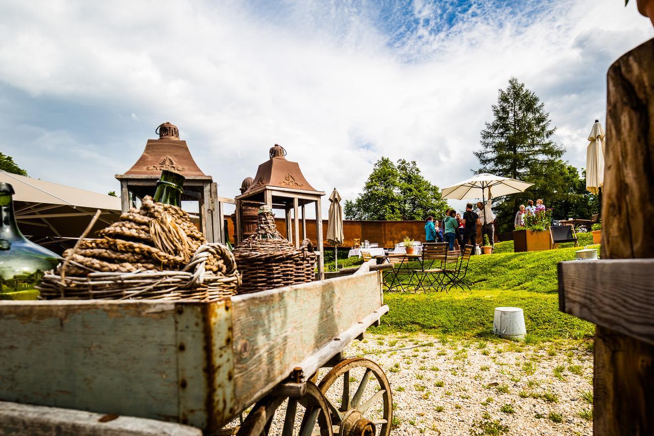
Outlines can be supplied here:
[[0, 400], [177, 421], [173, 303], [0, 303]]

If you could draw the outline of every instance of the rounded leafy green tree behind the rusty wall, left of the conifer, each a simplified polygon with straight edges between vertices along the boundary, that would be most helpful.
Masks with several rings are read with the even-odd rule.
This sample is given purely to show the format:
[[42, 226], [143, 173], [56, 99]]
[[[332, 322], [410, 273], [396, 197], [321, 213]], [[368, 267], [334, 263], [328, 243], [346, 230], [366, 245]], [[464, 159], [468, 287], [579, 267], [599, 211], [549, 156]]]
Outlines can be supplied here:
[[355, 201], [345, 201], [348, 220], [424, 220], [442, 216], [447, 202], [438, 186], [431, 184], [415, 161], [379, 159]]

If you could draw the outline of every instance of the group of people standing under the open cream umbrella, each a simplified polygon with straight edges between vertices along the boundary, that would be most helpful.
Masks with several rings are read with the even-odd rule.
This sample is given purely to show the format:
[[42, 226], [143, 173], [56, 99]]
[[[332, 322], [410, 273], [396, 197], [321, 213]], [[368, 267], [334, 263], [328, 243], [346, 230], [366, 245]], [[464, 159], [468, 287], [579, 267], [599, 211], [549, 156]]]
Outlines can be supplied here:
[[[475, 212], [472, 203], [468, 203], [463, 216], [455, 209], [447, 209], [445, 218], [441, 222], [434, 220], [431, 215], [428, 216], [424, 224], [426, 242], [447, 242], [450, 251], [455, 249], [457, 240], [461, 247], [468, 243], [474, 246], [477, 243], [477, 224], [481, 224], [483, 234], [489, 235], [490, 245], [494, 246], [495, 214], [492, 212], [491, 205], [492, 197], [489, 198], [486, 205], [479, 201], [477, 212]], [[485, 226], [484, 223], [486, 223]]]

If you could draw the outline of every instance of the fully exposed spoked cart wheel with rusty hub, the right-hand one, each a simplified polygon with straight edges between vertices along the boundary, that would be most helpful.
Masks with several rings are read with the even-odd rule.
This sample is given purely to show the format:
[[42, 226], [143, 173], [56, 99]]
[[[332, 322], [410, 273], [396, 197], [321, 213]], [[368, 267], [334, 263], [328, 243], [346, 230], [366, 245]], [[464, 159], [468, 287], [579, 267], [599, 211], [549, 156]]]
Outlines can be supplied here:
[[[370, 386], [374, 376], [379, 386]], [[336, 381], [342, 379], [342, 382]], [[350, 382], [358, 382], [351, 393]], [[393, 418], [390, 384], [377, 363], [364, 358], [351, 358], [338, 363], [318, 384], [325, 395], [334, 434], [339, 436], [388, 436]], [[339, 403], [340, 401], [340, 403]]]

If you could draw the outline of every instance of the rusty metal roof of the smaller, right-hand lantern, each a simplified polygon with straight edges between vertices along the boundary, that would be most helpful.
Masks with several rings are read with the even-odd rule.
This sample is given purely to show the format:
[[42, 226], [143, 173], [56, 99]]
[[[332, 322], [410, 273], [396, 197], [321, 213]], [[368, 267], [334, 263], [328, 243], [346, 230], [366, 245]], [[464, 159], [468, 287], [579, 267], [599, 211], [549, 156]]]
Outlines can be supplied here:
[[248, 197], [266, 189], [324, 195], [324, 192], [316, 190], [309, 184], [300, 170], [300, 165], [286, 160], [285, 156], [286, 150], [279, 144], [270, 148], [270, 158], [259, 165], [254, 180], [239, 197]]

